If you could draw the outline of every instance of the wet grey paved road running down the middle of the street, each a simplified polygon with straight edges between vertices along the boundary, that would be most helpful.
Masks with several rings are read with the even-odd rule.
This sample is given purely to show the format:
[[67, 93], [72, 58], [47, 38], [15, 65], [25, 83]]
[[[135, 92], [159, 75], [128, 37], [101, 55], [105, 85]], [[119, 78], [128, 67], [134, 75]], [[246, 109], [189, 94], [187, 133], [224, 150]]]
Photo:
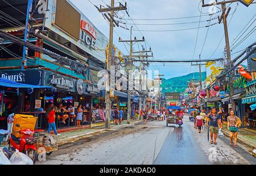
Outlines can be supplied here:
[[36, 164], [256, 164], [241, 147], [230, 147], [226, 137], [217, 141], [209, 144], [207, 130], [198, 134], [188, 118], [181, 127], [155, 121], [61, 145]]

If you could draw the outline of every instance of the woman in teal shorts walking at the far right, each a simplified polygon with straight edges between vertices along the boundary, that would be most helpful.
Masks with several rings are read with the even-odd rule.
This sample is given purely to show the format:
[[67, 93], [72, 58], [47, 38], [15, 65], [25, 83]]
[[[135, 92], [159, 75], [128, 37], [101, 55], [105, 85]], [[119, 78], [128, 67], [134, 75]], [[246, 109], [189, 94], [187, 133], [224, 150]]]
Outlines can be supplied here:
[[228, 117], [228, 130], [230, 131], [230, 145], [233, 144], [234, 138], [234, 147], [237, 147], [238, 124], [239, 119], [234, 115], [234, 110], [231, 110]]

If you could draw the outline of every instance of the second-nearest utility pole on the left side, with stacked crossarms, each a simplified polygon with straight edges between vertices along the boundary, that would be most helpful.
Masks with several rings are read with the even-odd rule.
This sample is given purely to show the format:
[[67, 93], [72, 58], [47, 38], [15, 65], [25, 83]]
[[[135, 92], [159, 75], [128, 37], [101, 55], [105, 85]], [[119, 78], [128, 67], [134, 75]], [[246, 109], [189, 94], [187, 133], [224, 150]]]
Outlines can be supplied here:
[[[144, 37], [142, 37], [142, 40], [137, 40], [137, 38], [135, 37], [134, 40], [132, 40], [132, 29], [133, 26], [131, 26], [131, 31], [130, 31], [130, 40], [121, 40], [121, 38], [119, 38], [119, 42], [126, 42], [127, 44], [130, 45], [130, 54], [129, 55], [123, 55], [123, 57], [127, 57], [128, 58], [128, 66], [129, 66], [129, 70], [127, 70], [128, 72], [130, 71], [134, 71], [134, 66], [133, 66], [133, 58], [137, 57], [137, 58], [141, 58], [143, 57], [142, 55], [133, 55], [133, 45], [136, 44], [137, 42], [144, 42], [145, 39]], [[150, 56], [148, 56], [150, 57]], [[131, 69], [132, 68], [132, 69]], [[128, 83], [130, 83], [130, 79], [129, 78], [129, 74], [127, 76], [128, 78]], [[133, 79], [133, 78], [132, 78]], [[131, 119], [131, 85], [128, 85], [128, 103], [127, 103], [127, 123], [130, 123], [130, 119]], [[139, 112], [139, 114], [141, 114], [141, 112]]]

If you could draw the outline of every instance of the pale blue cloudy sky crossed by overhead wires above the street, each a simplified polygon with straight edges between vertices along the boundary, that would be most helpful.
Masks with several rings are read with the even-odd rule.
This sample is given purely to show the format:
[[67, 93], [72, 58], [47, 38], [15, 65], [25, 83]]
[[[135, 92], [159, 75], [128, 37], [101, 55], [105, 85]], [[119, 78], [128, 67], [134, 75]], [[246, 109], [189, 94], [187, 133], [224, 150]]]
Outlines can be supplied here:
[[[90, 21], [98, 28], [106, 37], [109, 38], [109, 23], [103, 18], [102, 14], [98, 12], [97, 8], [93, 5], [102, 5], [106, 7], [106, 4], [110, 5], [110, 0], [70, 0], [75, 6], [77, 6], [82, 13], [90, 19]], [[209, 0], [210, 1], [210, 0]], [[209, 2], [208, 0], [205, 1]], [[125, 1], [119, 1], [125, 3]], [[142, 39], [145, 37], [146, 42], [140, 43], [139, 45], [134, 45], [134, 51], [142, 49], [142, 46], [146, 45], [147, 50], [151, 47], [154, 58], [149, 59], [159, 59], [159, 60], [188, 60], [188, 59], [199, 59], [199, 54], [201, 54], [201, 59], [220, 58], [225, 47], [225, 38], [221, 41], [224, 35], [223, 24], [215, 24], [210, 27], [205, 27], [209, 22], [205, 22], [210, 19], [209, 11], [212, 7], [201, 8], [201, 0], [127, 0], [127, 11], [129, 12], [130, 20], [125, 11], [119, 11], [117, 15], [120, 18], [125, 18], [127, 20], [121, 20], [115, 18], [116, 20], [121, 20], [126, 23], [126, 27], [130, 29], [133, 26], [133, 37], [136, 36], [137, 39]], [[118, 6], [118, 1], [115, 0], [115, 6]], [[249, 7], [242, 5], [242, 3], [232, 3], [228, 4], [231, 7], [231, 11], [228, 16], [229, 24], [229, 40], [230, 43], [234, 42], [234, 38], [242, 31], [246, 24], [253, 18], [256, 14], [256, 4], [252, 4]], [[227, 6], [228, 6], [227, 5]], [[99, 6], [98, 6], [99, 7]], [[221, 6], [217, 6], [220, 8]], [[216, 11], [220, 10], [216, 8]], [[236, 11], [235, 11], [236, 10]], [[201, 12], [200, 12], [201, 11]], [[200, 20], [201, 14], [201, 20]], [[212, 15], [212, 18], [216, 18], [217, 13]], [[188, 16], [198, 16], [196, 18], [184, 18]], [[169, 20], [136, 20], [136, 19], [166, 19]], [[170, 19], [170, 18], [183, 18], [183, 19]], [[256, 19], [254, 16], [253, 20]], [[200, 24], [198, 23], [199, 21]], [[193, 22], [193, 23], [191, 23]], [[194, 23], [195, 22], [195, 23]], [[218, 20], [210, 20], [210, 24], [217, 23]], [[135, 25], [135, 24], [136, 25]], [[179, 24], [177, 24], [179, 23]], [[189, 23], [189, 24], [180, 24]], [[148, 24], [148, 25], [139, 25]], [[161, 25], [156, 25], [161, 24]], [[168, 24], [168, 25], [162, 25]], [[170, 25], [171, 24], [171, 25]], [[122, 24], [125, 26], [125, 24]], [[247, 27], [243, 30], [245, 35], [251, 31], [256, 25], [254, 22], [249, 29]], [[202, 27], [199, 28], [198, 27]], [[196, 28], [183, 31], [168, 31], [177, 29], [188, 29]], [[140, 31], [135, 31], [135, 30]], [[143, 30], [152, 31], [164, 31], [165, 32], [150, 32]], [[124, 54], [128, 54], [129, 45], [124, 45], [122, 42], [118, 42], [118, 38], [121, 37], [122, 40], [130, 39], [130, 31], [121, 27], [114, 28], [114, 44]], [[197, 37], [198, 32], [198, 37]], [[241, 33], [242, 34], [242, 33]], [[236, 46], [243, 36], [232, 46]], [[256, 31], [240, 45], [232, 50], [232, 59], [234, 59], [242, 49], [256, 42]], [[196, 45], [197, 38], [197, 45]], [[237, 37], [238, 38], [238, 37]], [[220, 45], [218, 46], [218, 44]], [[204, 44], [204, 45], [203, 45]], [[233, 44], [233, 43], [231, 43]], [[195, 50], [196, 45], [196, 50]], [[218, 48], [217, 48], [218, 46]], [[217, 49], [217, 50], [216, 50]], [[194, 54], [195, 50], [195, 54]], [[216, 52], [214, 53], [214, 51]], [[195, 64], [195, 63], [193, 63]], [[159, 70], [160, 74], [164, 75], [164, 78], [174, 78], [176, 76], [182, 76], [189, 74], [191, 72], [198, 72], [198, 66], [191, 66], [191, 63], [150, 63], [148, 70]], [[209, 75], [209, 68], [202, 67], [202, 71], [207, 70]]]

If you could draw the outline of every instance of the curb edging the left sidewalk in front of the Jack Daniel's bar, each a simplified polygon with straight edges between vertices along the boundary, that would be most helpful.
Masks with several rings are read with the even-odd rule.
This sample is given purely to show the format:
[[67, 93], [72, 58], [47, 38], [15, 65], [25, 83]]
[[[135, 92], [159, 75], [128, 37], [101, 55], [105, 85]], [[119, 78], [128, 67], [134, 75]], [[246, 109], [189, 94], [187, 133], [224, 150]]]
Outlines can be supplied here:
[[91, 134], [94, 134], [94, 133], [97, 133], [97, 132], [102, 132], [102, 131], [112, 131], [112, 130], [117, 130], [118, 128], [122, 128], [122, 127], [125, 127], [125, 126], [131, 126], [131, 125], [135, 125], [135, 123], [138, 123], [138, 122], [142, 122], [141, 121], [135, 121], [133, 123], [130, 123], [130, 124], [126, 124], [126, 125], [121, 125], [121, 126], [114, 126], [110, 129], [108, 128], [104, 128], [104, 129], [100, 129], [100, 130], [96, 130], [96, 131], [90, 131], [90, 132], [86, 132], [86, 133], [83, 133], [83, 134], [80, 134], [80, 135], [75, 135], [75, 136], [69, 136], [63, 140], [59, 140], [59, 146], [60, 145], [64, 145], [64, 144], [69, 144], [72, 142], [72, 140], [79, 140], [80, 138], [83, 138], [84, 136], [87, 136], [87, 135], [91, 135]]

